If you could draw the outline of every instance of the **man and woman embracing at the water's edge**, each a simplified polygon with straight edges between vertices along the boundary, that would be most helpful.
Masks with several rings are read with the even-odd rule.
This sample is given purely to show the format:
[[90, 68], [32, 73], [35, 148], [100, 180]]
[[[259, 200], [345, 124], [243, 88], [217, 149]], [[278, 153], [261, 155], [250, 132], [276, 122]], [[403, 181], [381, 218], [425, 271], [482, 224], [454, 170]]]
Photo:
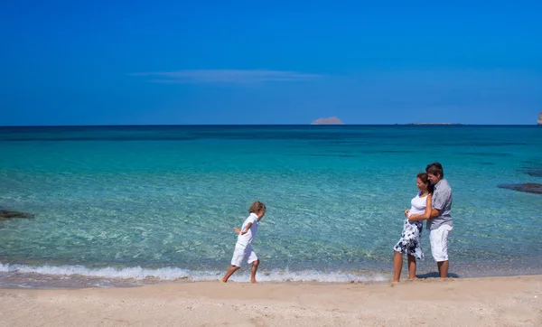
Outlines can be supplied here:
[[398, 282], [401, 276], [403, 254], [408, 257], [408, 278], [416, 278], [416, 258], [424, 258], [420, 242], [424, 220], [427, 220], [431, 254], [435, 258], [438, 273], [441, 278], [448, 276], [448, 234], [453, 229], [450, 215], [452, 188], [444, 179], [443, 165], [428, 164], [425, 173], [417, 174], [416, 186], [419, 192], [411, 201], [412, 207], [405, 211], [403, 233], [393, 248], [394, 282]]

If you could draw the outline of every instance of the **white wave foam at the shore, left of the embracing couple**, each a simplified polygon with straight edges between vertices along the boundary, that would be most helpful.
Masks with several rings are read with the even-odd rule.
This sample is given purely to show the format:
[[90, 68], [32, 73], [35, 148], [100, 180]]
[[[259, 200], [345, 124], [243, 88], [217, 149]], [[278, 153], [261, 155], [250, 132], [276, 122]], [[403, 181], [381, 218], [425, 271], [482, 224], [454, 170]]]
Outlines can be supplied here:
[[[28, 266], [0, 263], [0, 274], [16, 274], [28, 276], [37, 274], [42, 276], [83, 276], [89, 278], [105, 279], [157, 279], [160, 281], [173, 281], [184, 279], [188, 281], [212, 281], [220, 278], [225, 271], [213, 270], [189, 270], [178, 267], [164, 267], [149, 269], [141, 266], [117, 269], [115, 267], [88, 268], [86, 266]], [[248, 272], [244, 272], [231, 278], [233, 281], [248, 281]], [[381, 274], [359, 275], [352, 272], [318, 272], [314, 270], [289, 271], [273, 270], [258, 273], [257, 279], [262, 282], [322, 282], [322, 283], [347, 283], [347, 282], [381, 282], [388, 279]]]

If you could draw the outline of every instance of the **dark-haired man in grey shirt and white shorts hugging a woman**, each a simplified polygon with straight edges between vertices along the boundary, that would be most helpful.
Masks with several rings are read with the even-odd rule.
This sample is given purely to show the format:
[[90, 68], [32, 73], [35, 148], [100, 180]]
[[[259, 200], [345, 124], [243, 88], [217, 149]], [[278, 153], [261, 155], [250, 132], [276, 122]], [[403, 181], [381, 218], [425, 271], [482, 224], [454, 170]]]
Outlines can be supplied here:
[[453, 229], [452, 188], [444, 179], [443, 165], [431, 163], [425, 167], [427, 178], [435, 185], [433, 193], [433, 210], [427, 220], [429, 240], [431, 241], [431, 253], [438, 267], [441, 278], [448, 276], [448, 234]]

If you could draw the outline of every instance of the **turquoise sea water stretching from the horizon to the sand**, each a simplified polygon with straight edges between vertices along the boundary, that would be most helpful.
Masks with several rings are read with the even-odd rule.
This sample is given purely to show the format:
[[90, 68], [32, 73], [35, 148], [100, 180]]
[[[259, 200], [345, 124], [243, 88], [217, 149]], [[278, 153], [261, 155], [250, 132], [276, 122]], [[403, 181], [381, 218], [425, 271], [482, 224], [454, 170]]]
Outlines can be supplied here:
[[[252, 201], [262, 281], [388, 280], [416, 173], [453, 188], [452, 276], [542, 273], [540, 126], [0, 127], [0, 284], [217, 279]], [[418, 275], [435, 276], [428, 233]], [[248, 266], [233, 280], [248, 281]]]

